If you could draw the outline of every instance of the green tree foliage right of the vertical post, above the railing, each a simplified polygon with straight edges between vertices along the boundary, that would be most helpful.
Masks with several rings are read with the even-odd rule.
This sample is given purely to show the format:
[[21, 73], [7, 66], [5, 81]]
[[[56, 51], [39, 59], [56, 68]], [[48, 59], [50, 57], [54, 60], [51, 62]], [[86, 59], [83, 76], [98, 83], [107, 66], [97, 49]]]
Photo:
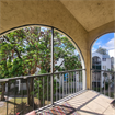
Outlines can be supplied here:
[[72, 43], [57, 31], [55, 31], [54, 37], [54, 55], [57, 59], [64, 58], [65, 70], [82, 68], [81, 62], [78, 60], [78, 56], [74, 55], [76, 47]]

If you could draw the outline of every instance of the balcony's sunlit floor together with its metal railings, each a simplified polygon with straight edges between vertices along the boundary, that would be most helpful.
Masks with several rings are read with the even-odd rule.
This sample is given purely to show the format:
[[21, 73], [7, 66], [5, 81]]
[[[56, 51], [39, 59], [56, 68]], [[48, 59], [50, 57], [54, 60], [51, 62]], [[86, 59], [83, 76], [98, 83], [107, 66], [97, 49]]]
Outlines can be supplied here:
[[[95, 71], [97, 78], [99, 70], [91, 71]], [[106, 78], [110, 78], [110, 71], [104, 72], [107, 73]], [[0, 113], [24, 115], [34, 110], [38, 115], [114, 115], [115, 108], [111, 103], [115, 99], [115, 72], [114, 78], [94, 79], [95, 84], [92, 81], [91, 90], [85, 88], [84, 74], [85, 69], [79, 69], [1, 79], [5, 100], [0, 102]]]

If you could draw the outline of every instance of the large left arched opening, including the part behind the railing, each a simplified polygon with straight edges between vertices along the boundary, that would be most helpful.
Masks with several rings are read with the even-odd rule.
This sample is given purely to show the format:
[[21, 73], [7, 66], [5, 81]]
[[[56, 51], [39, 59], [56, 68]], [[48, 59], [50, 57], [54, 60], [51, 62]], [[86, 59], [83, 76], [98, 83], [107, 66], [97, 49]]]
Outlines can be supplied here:
[[30, 25], [2, 34], [0, 60], [0, 78], [8, 79], [2, 94], [27, 96], [30, 106], [53, 104], [85, 89], [82, 54], [58, 28]]

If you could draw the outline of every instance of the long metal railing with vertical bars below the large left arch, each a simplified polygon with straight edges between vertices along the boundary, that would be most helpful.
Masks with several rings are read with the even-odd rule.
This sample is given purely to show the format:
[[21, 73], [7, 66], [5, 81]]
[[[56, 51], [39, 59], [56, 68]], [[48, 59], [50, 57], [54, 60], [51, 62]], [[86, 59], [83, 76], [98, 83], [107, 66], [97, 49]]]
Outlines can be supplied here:
[[4, 114], [16, 114], [19, 112], [23, 115], [32, 110], [54, 104], [62, 97], [85, 90], [84, 72], [85, 69], [78, 69], [0, 79], [2, 91], [4, 88]]

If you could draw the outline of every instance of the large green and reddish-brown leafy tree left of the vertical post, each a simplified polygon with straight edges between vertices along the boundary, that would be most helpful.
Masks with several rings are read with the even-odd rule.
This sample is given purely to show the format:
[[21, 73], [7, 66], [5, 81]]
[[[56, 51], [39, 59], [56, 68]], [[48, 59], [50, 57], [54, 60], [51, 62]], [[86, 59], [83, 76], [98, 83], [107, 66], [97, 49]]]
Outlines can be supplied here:
[[[50, 30], [41, 27], [25, 27], [2, 36], [0, 78], [34, 74], [37, 68], [41, 73], [50, 72]], [[30, 105], [33, 104], [32, 81], [27, 85]]]

